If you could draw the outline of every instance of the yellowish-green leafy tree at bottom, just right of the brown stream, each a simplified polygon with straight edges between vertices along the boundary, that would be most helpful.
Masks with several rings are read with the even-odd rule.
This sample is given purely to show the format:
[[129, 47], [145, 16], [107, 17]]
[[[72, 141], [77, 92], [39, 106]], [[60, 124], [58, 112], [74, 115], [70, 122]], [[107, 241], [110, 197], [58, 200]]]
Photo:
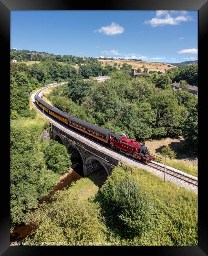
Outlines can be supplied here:
[[70, 192], [58, 191], [50, 204], [38, 208], [32, 217], [38, 229], [26, 242], [50, 241], [67, 246], [76, 246], [76, 242], [105, 242], [106, 227], [96, 204], [91, 207], [88, 201], [77, 200], [77, 195]]

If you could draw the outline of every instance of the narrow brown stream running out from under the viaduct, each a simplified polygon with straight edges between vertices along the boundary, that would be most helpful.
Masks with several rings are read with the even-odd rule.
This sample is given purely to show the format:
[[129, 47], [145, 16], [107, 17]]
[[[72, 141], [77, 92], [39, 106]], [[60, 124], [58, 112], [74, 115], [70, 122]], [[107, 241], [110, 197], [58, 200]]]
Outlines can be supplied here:
[[[53, 191], [39, 200], [38, 204], [42, 204], [44, 201], [47, 202], [53, 194], [61, 189], [68, 189], [70, 184], [76, 180], [82, 178], [82, 170], [80, 170], [80, 165], [78, 166], [77, 163], [72, 165], [72, 168], [69, 170], [69, 173], [65, 173], [61, 176], [58, 183], [53, 187]], [[31, 209], [31, 211], [35, 211], [35, 209]], [[25, 239], [27, 236], [32, 234], [36, 230], [36, 226], [34, 224], [19, 224], [16, 225], [13, 232], [10, 234], [10, 243], [18, 242]]]

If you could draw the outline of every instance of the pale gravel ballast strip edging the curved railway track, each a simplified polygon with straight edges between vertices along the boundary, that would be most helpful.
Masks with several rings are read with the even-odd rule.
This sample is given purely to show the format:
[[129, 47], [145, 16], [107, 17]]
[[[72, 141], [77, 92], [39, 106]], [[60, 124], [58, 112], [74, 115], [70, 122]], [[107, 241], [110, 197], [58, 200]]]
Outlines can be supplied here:
[[[64, 84], [64, 83], [67, 83], [67, 82], [63, 82], [63, 83], [60, 83], [60, 84]], [[53, 86], [57, 86], [57, 85], [60, 85], [60, 84], [48, 85], [45, 89], [43, 89], [43, 90], [40, 89], [40, 90], [36, 91], [36, 93], [31, 94], [30, 97], [31, 97], [31, 100], [33, 102], [33, 105], [35, 106], [35, 108], [40, 113], [42, 113], [42, 115], [43, 115], [42, 110], [40, 110], [40, 108], [38, 108], [36, 103], [35, 103], [35, 95], [38, 92], [40, 92], [40, 91], [44, 92], [48, 87], [53, 87]], [[39, 96], [41, 96], [42, 92], [39, 94]], [[93, 140], [93, 139], [91, 139], [91, 138], [89, 138], [87, 136], [81, 135], [78, 132], [75, 132], [74, 130], [71, 130], [68, 126], [59, 123], [57, 120], [53, 119], [52, 117], [49, 117], [47, 115], [47, 113], [45, 113], [45, 118], [47, 118], [50, 122], [53, 122], [54, 124], [56, 124], [59, 128], [61, 128], [62, 130], [66, 131], [68, 134], [70, 134], [73, 137], [79, 139], [80, 141], [83, 141], [84, 143], [87, 143], [88, 145], [91, 145], [92, 147], [97, 148], [98, 150], [100, 150], [102, 152], [105, 152], [106, 154], [111, 154], [111, 155], [115, 156], [116, 158], [119, 158], [122, 163], [124, 163], [126, 165], [130, 165], [132, 167], [146, 169], [146, 170], [150, 171], [151, 173], [159, 176], [161, 179], [164, 179], [164, 172], [162, 170], [160, 170], [159, 168], [155, 169], [152, 166], [144, 165], [143, 163], [141, 163], [139, 161], [133, 160], [133, 158], [131, 158], [131, 157], [128, 157], [128, 156], [126, 156], [124, 154], [121, 154], [121, 153], [119, 153], [117, 151], [110, 150], [108, 147], [107, 148], [104, 147], [103, 145], [101, 145], [97, 141], [95, 141], [95, 140]], [[155, 164], [158, 165], [158, 163], [156, 163], [154, 161], [152, 161], [152, 163], [155, 163]], [[164, 165], [161, 164], [161, 163], [159, 165], [161, 167], [164, 167]], [[173, 167], [170, 167], [170, 166], [166, 166], [166, 168], [169, 169], [169, 170], [175, 171], [177, 174], [179, 174], [178, 176], [180, 176], [180, 174], [182, 174], [182, 175], [186, 176], [187, 178], [191, 178], [191, 179], [195, 180], [198, 183], [198, 178], [195, 177], [195, 176], [192, 176], [192, 175], [187, 174], [187, 173], [183, 173], [183, 172], [181, 172], [181, 171], [179, 171], [177, 169], [174, 169]], [[186, 189], [191, 189], [195, 193], [198, 193], [198, 186], [196, 186], [194, 184], [189, 184], [185, 180], [181, 180], [177, 176], [172, 176], [172, 175], [166, 173], [166, 181], [173, 182], [173, 183], [177, 184], [178, 186], [185, 187]]]

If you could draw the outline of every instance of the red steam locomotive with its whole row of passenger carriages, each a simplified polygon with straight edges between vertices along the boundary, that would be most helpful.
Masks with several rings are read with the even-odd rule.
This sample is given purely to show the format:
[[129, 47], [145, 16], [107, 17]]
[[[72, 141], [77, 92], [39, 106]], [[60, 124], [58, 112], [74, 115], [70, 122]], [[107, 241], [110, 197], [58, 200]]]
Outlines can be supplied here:
[[139, 159], [143, 163], [150, 162], [154, 159], [154, 157], [150, 155], [149, 149], [145, 146], [144, 143], [140, 144], [133, 139], [128, 139], [125, 134], [115, 134], [110, 130], [73, 117], [72, 115], [52, 107], [44, 100], [42, 100], [42, 98], [40, 98], [38, 95], [35, 95], [35, 102], [49, 115], [55, 117], [64, 124], [80, 130], [81, 132], [84, 132], [91, 137], [95, 137], [99, 141], [111, 145], [113, 148], [125, 153], [126, 155]]

